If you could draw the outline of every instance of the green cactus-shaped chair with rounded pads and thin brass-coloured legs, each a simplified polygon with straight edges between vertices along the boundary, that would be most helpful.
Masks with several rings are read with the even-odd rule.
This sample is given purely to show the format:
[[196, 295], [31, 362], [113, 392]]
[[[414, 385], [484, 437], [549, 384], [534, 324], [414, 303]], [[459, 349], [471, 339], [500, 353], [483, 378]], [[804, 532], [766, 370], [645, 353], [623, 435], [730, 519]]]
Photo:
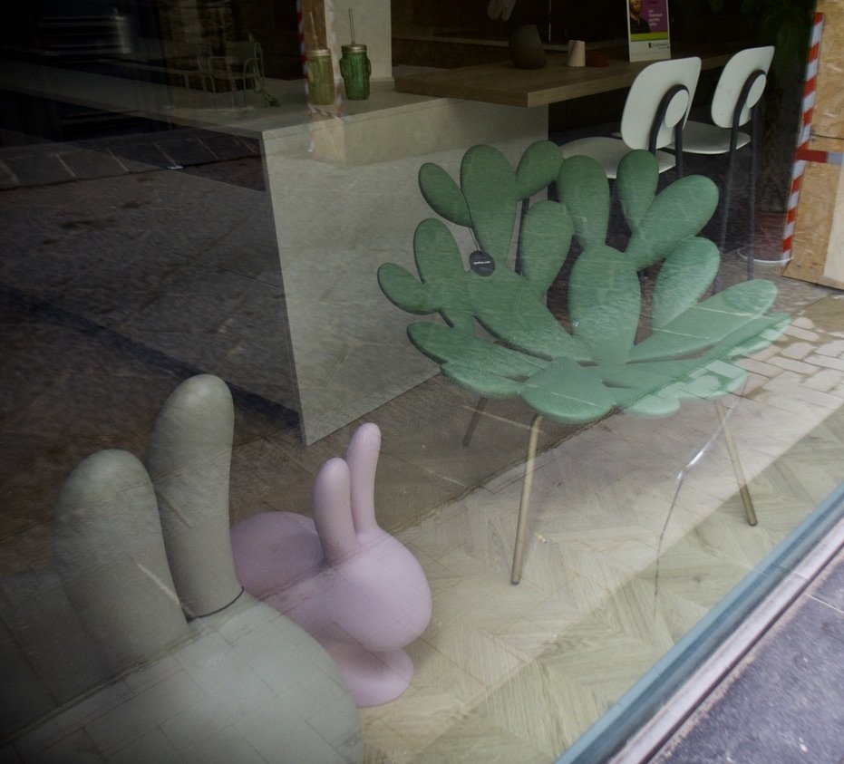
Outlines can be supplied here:
[[[717, 400], [742, 384], [745, 372], [734, 359], [771, 343], [789, 323], [787, 315], [768, 312], [776, 296], [768, 281], [702, 299], [720, 256], [698, 234], [718, 191], [710, 179], [688, 176], [657, 193], [658, 179], [648, 151], [622, 160], [616, 195], [630, 236], [621, 251], [606, 243], [610, 190], [597, 161], [564, 160], [556, 145], [541, 140], [514, 170], [499, 150], [475, 146], [463, 156], [459, 185], [432, 163], [420, 169], [419, 185], [441, 218], [471, 229], [477, 249], [464, 259], [446, 223], [426, 218], [413, 237], [419, 277], [391, 263], [378, 269], [394, 305], [439, 314], [441, 320], [410, 324], [407, 333], [445, 376], [481, 399], [519, 396], [535, 412], [514, 584], [542, 418], [586, 423], [620, 410], [658, 416], [677, 411], [686, 398]], [[529, 204], [552, 184], [555, 199]], [[573, 238], [579, 254], [568, 276], [568, 329], [548, 310], [546, 293]], [[648, 268], [656, 276], [643, 316], [639, 273]], [[752, 507], [753, 523], [751, 513]]]

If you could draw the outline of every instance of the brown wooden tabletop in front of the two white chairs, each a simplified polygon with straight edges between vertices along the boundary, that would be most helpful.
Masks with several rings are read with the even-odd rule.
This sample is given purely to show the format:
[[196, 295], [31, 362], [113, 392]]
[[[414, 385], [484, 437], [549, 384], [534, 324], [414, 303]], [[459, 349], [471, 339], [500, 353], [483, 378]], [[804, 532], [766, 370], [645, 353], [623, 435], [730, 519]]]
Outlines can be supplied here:
[[[569, 67], [567, 56], [548, 56], [542, 69], [517, 69], [512, 63], [485, 63], [459, 69], [437, 69], [425, 73], [398, 77], [395, 89], [399, 92], [430, 95], [438, 98], [461, 98], [467, 101], [500, 103], [505, 106], [548, 106], [587, 95], [628, 88], [649, 61], [630, 63], [626, 52], [609, 53], [609, 65], [604, 67]], [[723, 66], [734, 50], [678, 51], [674, 58], [700, 55], [703, 69]]]

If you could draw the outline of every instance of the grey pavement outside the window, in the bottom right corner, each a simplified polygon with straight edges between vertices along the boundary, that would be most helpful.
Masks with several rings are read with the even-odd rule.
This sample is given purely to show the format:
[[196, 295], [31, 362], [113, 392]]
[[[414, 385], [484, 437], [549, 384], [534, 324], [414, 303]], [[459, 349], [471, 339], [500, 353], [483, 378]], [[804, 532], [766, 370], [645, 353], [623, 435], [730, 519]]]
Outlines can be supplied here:
[[844, 761], [844, 549], [651, 760]]

